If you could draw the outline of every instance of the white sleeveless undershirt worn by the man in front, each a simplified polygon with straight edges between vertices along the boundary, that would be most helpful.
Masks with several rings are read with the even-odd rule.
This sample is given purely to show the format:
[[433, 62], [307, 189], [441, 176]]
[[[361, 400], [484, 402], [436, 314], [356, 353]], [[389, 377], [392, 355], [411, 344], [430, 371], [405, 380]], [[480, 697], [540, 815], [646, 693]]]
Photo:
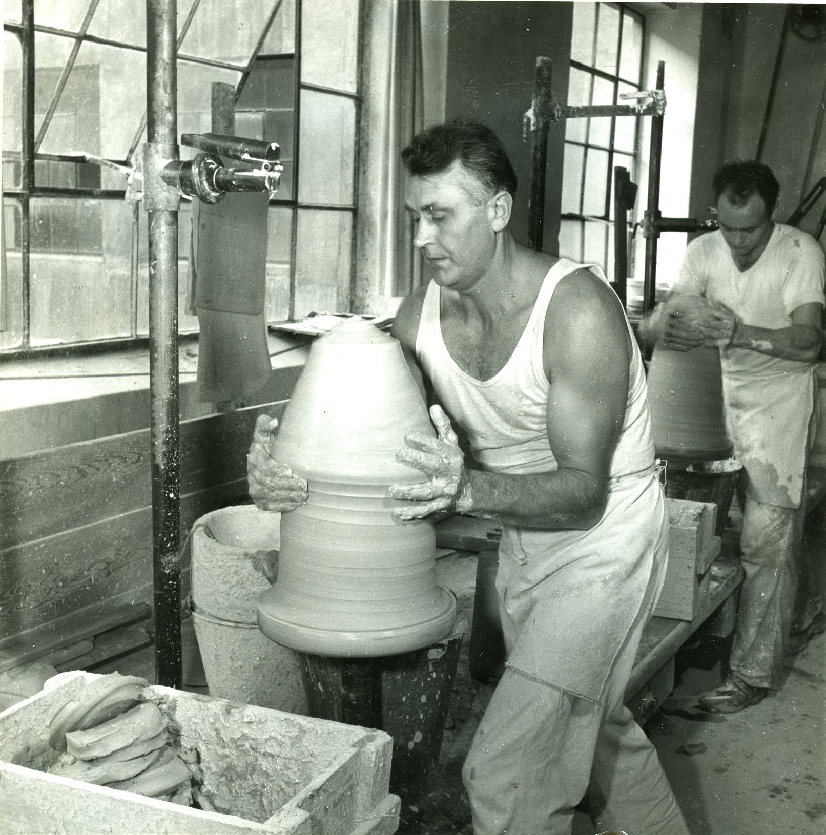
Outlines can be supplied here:
[[[433, 282], [428, 286], [418, 326], [416, 356], [433, 382], [439, 402], [468, 433], [474, 458], [485, 469], [497, 473], [544, 473], [558, 466], [546, 428], [550, 384], [542, 359], [545, 314], [559, 281], [583, 268], [607, 283], [599, 266], [576, 264], [565, 258], [557, 261], [545, 276], [513, 354], [494, 377], [484, 381], [464, 372], [450, 356], [442, 337], [440, 288]], [[564, 346], [559, 349], [564, 350]], [[645, 369], [631, 333], [626, 415], [611, 459], [611, 482], [646, 471], [653, 463]]]

